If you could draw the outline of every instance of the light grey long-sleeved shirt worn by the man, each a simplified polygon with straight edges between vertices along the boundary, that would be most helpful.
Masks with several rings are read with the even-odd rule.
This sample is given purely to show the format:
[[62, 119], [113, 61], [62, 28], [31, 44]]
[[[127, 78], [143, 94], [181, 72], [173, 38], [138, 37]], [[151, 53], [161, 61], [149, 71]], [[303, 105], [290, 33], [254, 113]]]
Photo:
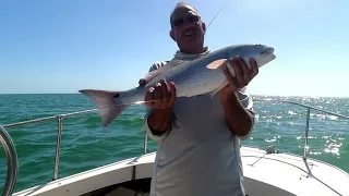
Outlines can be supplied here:
[[[178, 51], [173, 60], [192, 60], [209, 52], [185, 54]], [[155, 63], [149, 71], [165, 65]], [[246, 88], [237, 93], [241, 103], [253, 113], [253, 102]], [[149, 137], [158, 142], [151, 186], [152, 196], [244, 196], [240, 156], [240, 138], [226, 122], [219, 94], [180, 97], [173, 107], [171, 126], [161, 135]]]

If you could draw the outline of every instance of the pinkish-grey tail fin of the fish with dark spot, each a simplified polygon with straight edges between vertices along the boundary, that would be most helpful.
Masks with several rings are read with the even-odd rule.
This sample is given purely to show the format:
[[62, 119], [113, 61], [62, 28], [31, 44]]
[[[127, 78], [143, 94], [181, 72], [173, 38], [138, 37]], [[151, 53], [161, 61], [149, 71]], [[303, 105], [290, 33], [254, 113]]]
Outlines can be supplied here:
[[82, 89], [79, 91], [92, 98], [96, 103], [103, 127], [110, 124], [123, 110], [130, 107], [130, 105], [124, 105], [121, 99], [118, 99], [123, 91], [97, 89]]

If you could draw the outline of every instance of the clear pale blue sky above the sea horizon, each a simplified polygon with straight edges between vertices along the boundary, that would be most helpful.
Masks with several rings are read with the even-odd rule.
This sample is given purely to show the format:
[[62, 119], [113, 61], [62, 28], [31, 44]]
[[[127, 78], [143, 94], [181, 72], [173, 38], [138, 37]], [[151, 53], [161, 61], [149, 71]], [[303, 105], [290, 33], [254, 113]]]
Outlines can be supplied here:
[[[124, 90], [173, 57], [177, 0], [1, 1], [0, 94]], [[349, 1], [188, 0], [209, 26], [213, 50], [264, 44], [276, 60], [250, 84], [254, 95], [349, 97]]]

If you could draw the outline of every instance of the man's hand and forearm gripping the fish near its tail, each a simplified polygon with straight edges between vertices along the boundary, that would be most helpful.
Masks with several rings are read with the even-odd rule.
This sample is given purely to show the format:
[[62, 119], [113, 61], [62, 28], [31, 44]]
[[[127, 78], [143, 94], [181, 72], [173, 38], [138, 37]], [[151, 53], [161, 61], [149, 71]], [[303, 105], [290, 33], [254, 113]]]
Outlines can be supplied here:
[[[139, 83], [140, 86], [146, 84], [144, 79]], [[147, 119], [153, 133], [161, 134], [169, 127], [176, 98], [174, 83], [167, 83], [165, 78], [146, 91], [145, 105], [154, 109]]]

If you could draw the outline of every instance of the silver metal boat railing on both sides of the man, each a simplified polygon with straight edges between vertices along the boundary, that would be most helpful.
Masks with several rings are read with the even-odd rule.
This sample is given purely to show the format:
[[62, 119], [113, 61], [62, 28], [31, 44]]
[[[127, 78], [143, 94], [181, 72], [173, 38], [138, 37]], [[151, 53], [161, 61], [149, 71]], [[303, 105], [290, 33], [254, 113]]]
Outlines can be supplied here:
[[[310, 111], [315, 110], [315, 111], [320, 111], [320, 112], [323, 112], [326, 114], [335, 115], [340, 119], [349, 120], [349, 117], [341, 115], [341, 114], [334, 113], [334, 112], [329, 112], [329, 111], [326, 111], [326, 110], [323, 110], [320, 108], [315, 108], [315, 107], [311, 107], [311, 106], [306, 106], [303, 103], [293, 102], [293, 101], [279, 100], [279, 99], [254, 99], [253, 101], [255, 101], [255, 102], [262, 101], [262, 102], [289, 103], [289, 105], [300, 106], [300, 107], [303, 107], [306, 109], [303, 160], [304, 160], [304, 163], [306, 166], [306, 169], [308, 169], [310, 175], [312, 175], [312, 174], [311, 174], [311, 170], [310, 170], [308, 162], [306, 162], [306, 149], [309, 148], [308, 135], [309, 135]], [[57, 120], [58, 133], [57, 133], [57, 144], [56, 144], [53, 177], [52, 177], [52, 181], [55, 181], [58, 179], [59, 152], [60, 152], [60, 146], [61, 146], [61, 136], [62, 136], [62, 131], [63, 131], [63, 119], [67, 119], [70, 117], [76, 117], [76, 115], [84, 115], [84, 114], [88, 114], [88, 113], [93, 113], [93, 112], [97, 112], [97, 109], [58, 114], [58, 115], [40, 118], [40, 119], [35, 119], [35, 120], [28, 120], [28, 121], [22, 121], [22, 122], [12, 123], [12, 124], [5, 124], [3, 126], [1, 126], [1, 124], [0, 124], [0, 133], [1, 133], [0, 134], [0, 142], [5, 150], [7, 160], [8, 160], [8, 175], [7, 175], [7, 181], [4, 184], [3, 195], [5, 195], [5, 196], [12, 195], [13, 189], [14, 189], [14, 185], [16, 183], [16, 175], [17, 175], [17, 156], [16, 156], [14, 144], [13, 144], [10, 135], [8, 134], [7, 128], [9, 130], [9, 128], [13, 128], [13, 127], [24, 126], [27, 124], [41, 123], [41, 122]], [[143, 154], [147, 152], [147, 138], [148, 138], [148, 136], [145, 132]]]

